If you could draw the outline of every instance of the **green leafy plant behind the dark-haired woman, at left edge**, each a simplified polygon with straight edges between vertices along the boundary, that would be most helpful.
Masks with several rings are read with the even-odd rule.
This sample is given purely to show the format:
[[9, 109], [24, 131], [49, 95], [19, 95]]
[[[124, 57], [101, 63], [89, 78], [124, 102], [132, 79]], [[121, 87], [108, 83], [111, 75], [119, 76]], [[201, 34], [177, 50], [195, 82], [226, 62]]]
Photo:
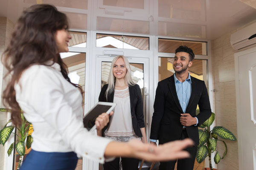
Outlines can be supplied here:
[[[10, 111], [11, 111], [10, 109], [0, 108], [0, 112], [10, 112]], [[20, 114], [21, 114], [22, 122], [19, 127], [16, 127], [18, 133], [12, 132], [15, 126], [13, 125], [7, 126], [8, 123], [12, 122], [11, 120], [9, 120], [6, 123], [6, 125], [3, 127], [2, 130], [0, 130], [0, 144], [3, 144], [3, 146], [9, 139], [11, 133], [14, 133], [16, 136], [16, 141], [9, 146], [7, 153], [8, 153], [8, 156], [10, 156], [15, 145], [15, 149], [17, 153], [20, 155], [17, 169], [20, 169], [21, 161], [23, 159], [23, 156], [25, 155], [25, 141], [26, 141], [26, 147], [27, 149], [29, 149], [31, 147], [32, 140], [33, 140], [31, 135], [28, 135], [29, 131], [32, 130], [32, 128], [29, 128], [31, 123], [26, 121], [22, 111]]]

